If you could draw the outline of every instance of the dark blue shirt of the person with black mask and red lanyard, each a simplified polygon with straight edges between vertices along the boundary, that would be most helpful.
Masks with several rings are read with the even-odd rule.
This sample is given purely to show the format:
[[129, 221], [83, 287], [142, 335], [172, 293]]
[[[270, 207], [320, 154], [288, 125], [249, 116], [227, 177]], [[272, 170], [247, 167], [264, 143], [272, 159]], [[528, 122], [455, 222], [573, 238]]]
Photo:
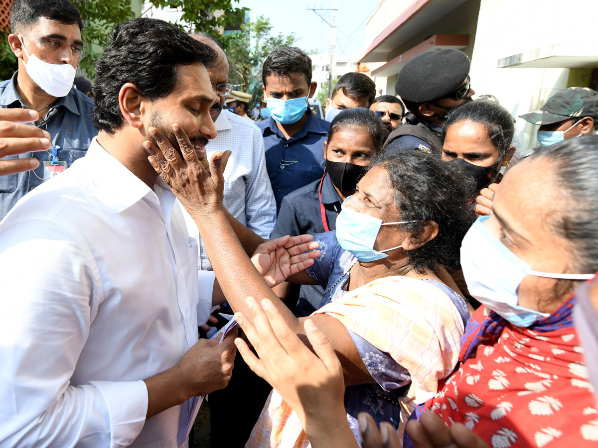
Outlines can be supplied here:
[[[319, 195], [320, 182], [322, 182], [322, 201], [320, 201]], [[323, 180], [315, 180], [303, 188], [289, 193], [282, 200], [276, 225], [270, 238], [324, 233], [326, 229], [322, 222], [321, 204], [324, 205], [328, 229], [335, 230], [336, 219], [342, 203], [343, 200], [332, 185], [330, 176], [325, 176]], [[295, 315], [304, 317], [312, 314], [320, 308], [323, 295], [324, 288], [319, 285], [301, 285], [299, 291], [297, 288], [291, 288], [291, 297], [289, 298], [297, 301]]]

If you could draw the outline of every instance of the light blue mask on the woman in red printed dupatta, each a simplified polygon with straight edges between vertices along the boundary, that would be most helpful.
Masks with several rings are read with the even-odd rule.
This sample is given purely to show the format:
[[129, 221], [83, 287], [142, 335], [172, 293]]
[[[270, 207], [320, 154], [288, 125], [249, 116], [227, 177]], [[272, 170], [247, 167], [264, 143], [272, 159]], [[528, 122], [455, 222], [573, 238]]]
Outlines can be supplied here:
[[478, 218], [461, 243], [461, 268], [469, 294], [517, 327], [529, 327], [544, 314], [518, 305], [517, 288], [527, 275], [587, 280], [592, 274], [538, 272], [512, 253]]

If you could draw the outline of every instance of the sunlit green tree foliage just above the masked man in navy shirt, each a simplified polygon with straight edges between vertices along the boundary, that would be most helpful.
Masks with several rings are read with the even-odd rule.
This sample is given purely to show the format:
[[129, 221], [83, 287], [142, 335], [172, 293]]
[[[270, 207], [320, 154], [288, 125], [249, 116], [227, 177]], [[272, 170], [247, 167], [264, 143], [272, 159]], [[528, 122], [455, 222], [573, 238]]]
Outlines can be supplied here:
[[266, 57], [276, 48], [292, 47], [297, 39], [294, 33], [272, 36], [270, 19], [258, 17], [255, 22], [246, 22], [241, 31], [228, 42], [227, 56], [230, 64], [228, 78], [239, 90], [252, 95], [252, 105], [262, 97], [261, 67]]

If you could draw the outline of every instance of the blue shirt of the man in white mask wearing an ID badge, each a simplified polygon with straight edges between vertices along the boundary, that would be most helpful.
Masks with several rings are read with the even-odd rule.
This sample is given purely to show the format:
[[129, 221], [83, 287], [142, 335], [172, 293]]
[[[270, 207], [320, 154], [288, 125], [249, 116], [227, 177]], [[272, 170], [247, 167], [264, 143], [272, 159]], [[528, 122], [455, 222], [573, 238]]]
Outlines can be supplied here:
[[[0, 108], [27, 108], [17, 93], [17, 73], [18, 70], [14, 72], [13, 78], [0, 82]], [[97, 136], [91, 117], [94, 108], [90, 97], [71, 88], [69, 94], [58, 98], [45, 118], [36, 125], [50, 133], [50, 141], [58, 150], [58, 159], [60, 162], [66, 162], [67, 168], [86, 154], [91, 139]], [[33, 171], [0, 177], [0, 219], [6, 216], [20, 198], [44, 182], [43, 162], [52, 160], [51, 151], [52, 148], [49, 152], [26, 152], [5, 157], [36, 158], [39, 160], [39, 166]]]

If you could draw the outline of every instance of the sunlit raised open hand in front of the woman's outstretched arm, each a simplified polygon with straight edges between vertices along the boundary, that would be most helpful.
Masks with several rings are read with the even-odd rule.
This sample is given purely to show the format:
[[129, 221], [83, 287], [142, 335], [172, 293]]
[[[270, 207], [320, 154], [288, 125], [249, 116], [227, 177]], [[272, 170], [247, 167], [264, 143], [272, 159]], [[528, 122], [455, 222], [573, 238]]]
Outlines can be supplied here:
[[343, 369], [324, 333], [312, 320], [304, 322], [314, 354], [292, 332], [270, 300], [262, 300], [260, 307], [248, 297], [247, 306], [253, 324], [240, 312], [234, 318], [259, 358], [242, 339], [237, 337], [234, 342], [251, 370], [269, 382], [292, 407], [308, 436], [314, 427], [330, 431], [334, 425], [347, 425]]

